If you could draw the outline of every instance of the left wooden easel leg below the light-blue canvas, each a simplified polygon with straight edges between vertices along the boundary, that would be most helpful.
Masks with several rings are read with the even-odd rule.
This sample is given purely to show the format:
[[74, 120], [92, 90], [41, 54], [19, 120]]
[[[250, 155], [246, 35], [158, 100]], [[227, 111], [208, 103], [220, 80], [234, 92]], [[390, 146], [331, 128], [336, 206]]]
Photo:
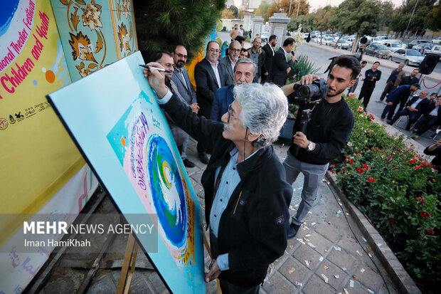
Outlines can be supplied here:
[[[127, 240], [126, 252], [124, 253], [124, 261], [121, 268], [121, 276], [119, 277], [119, 283], [117, 288], [117, 294], [129, 293], [130, 283], [132, 282], [132, 276], [137, 262], [138, 244], [132, 233]], [[129, 266], [132, 264], [132, 268]], [[128, 275], [128, 276], [127, 276]]]

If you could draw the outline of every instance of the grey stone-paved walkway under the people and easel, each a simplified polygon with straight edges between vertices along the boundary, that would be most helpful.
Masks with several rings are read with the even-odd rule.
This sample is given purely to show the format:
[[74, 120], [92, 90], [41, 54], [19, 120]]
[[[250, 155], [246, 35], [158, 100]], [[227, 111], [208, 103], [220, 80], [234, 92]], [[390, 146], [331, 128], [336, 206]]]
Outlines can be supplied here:
[[[285, 159], [287, 146], [275, 144], [275, 149], [280, 160]], [[196, 159], [193, 140], [187, 154], [197, 164], [187, 170], [198, 199], [204, 205], [200, 179], [205, 165]], [[291, 214], [295, 213], [299, 204], [302, 181], [300, 176], [293, 184], [294, 196], [289, 207]], [[354, 220], [329, 184], [323, 182], [319, 195], [317, 206], [310, 211], [297, 236], [289, 240], [285, 255], [270, 267], [260, 293], [397, 293], [378, 258], [370, 251]], [[96, 212], [117, 213], [110, 199], [102, 201]], [[112, 221], [118, 223], [119, 220]], [[115, 238], [111, 246], [119, 253], [105, 254], [87, 293], [116, 293], [120, 268], [112, 264], [115, 265], [115, 261], [121, 263], [126, 243], [127, 237], [120, 235]], [[76, 292], [96, 256], [90, 253], [65, 253], [40, 293]], [[208, 268], [208, 253], [205, 254], [205, 261]], [[139, 254], [137, 266], [129, 293], [168, 293], [159, 275], [148, 269], [152, 266], [144, 255]], [[207, 285], [207, 293], [216, 293], [215, 282]]]

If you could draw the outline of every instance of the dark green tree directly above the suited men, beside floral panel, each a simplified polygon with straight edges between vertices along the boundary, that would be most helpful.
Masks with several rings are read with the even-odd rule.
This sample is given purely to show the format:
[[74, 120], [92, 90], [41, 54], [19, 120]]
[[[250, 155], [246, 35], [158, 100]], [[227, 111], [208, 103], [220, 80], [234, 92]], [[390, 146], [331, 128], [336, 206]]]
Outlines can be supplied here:
[[[192, 57], [225, 8], [225, 0], [134, 0], [139, 51], [149, 61], [154, 53], [186, 46]], [[196, 5], [197, 4], [197, 5]]]

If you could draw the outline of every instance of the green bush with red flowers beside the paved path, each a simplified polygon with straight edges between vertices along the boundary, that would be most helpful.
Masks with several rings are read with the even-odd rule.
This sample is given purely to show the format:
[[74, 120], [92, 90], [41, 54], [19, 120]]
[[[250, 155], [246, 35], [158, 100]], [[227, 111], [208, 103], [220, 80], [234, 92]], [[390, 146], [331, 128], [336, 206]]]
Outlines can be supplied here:
[[355, 122], [334, 172], [423, 293], [441, 285], [441, 177], [423, 157], [373, 122], [356, 98], [345, 96]]

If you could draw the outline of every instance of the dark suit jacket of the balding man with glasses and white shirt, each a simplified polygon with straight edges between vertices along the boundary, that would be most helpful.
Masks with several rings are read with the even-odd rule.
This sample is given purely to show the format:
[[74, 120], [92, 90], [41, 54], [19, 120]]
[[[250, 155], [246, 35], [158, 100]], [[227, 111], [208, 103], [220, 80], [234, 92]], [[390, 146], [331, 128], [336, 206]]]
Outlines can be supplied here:
[[221, 85], [216, 82], [216, 75], [207, 58], [203, 58], [194, 67], [194, 81], [196, 82], [196, 97], [199, 105], [199, 115], [210, 117], [214, 95], [218, 88], [225, 85], [223, 66], [218, 64]]

